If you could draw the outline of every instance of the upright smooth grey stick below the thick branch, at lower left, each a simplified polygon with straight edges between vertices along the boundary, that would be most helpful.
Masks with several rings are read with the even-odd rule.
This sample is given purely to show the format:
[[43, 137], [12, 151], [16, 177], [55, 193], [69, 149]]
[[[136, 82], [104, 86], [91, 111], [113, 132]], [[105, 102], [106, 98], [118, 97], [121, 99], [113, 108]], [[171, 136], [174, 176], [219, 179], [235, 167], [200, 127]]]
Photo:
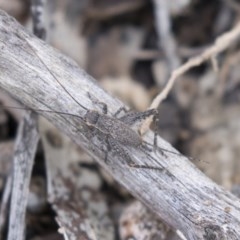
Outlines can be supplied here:
[[29, 183], [39, 139], [33, 115], [24, 116], [15, 144], [8, 240], [24, 239]]

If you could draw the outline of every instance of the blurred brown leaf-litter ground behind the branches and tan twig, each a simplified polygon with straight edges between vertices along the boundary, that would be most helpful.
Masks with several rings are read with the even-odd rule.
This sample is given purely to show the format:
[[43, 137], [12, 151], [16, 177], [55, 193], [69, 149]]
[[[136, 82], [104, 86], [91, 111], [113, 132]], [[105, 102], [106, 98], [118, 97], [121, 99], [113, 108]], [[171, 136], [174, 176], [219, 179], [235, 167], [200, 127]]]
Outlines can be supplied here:
[[[32, 31], [30, 6], [27, 0], [0, 0], [1, 9]], [[218, 36], [232, 29], [239, 21], [239, 13], [237, 0], [49, 0], [44, 5], [44, 23], [47, 43], [73, 58], [130, 108], [144, 111], [166, 85], [172, 70], [201, 54]], [[239, 47], [235, 43], [217, 57], [217, 71], [207, 61], [181, 76], [159, 106], [157, 126], [162, 138], [193, 157], [207, 176], [238, 196]], [[2, 91], [0, 101], [17, 106]], [[1, 192], [11, 169], [14, 138], [22, 114], [0, 109]], [[77, 159], [74, 162], [81, 162], [77, 163], [79, 168], [87, 166], [97, 179], [98, 193], [104, 195], [111, 235], [102, 239], [128, 239], [126, 236], [131, 234], [126, 226], [131, 229], [129, 226], [134, 224], [142, 237], [139, 215], [151, 221], [154, 216], [147, 210], [139, 212], [143, 206], [138, 202], [126, 207], [133, 198], [79, 147], [69, 144]], [[31, 183], [27, 239], [63, 239], [57, 233], [54, 213], [45, 196], [44, 156], [40, 144]], [[133, 216], [138, 220], [133, 220]], [[146, 238], [134, 233], [134, 239], [179, 239], [170, 227], [157, 221], [152, 225], [154, 233]]]

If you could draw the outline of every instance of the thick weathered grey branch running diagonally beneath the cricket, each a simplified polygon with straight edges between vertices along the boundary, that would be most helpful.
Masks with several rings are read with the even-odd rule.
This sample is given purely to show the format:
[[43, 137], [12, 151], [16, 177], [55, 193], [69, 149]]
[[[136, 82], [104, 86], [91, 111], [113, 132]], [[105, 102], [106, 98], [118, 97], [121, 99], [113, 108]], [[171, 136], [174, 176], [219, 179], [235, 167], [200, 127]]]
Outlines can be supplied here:
[[[108, 154], [106, 163], [103, 150], [106, 149], [106, 136], [96, 131], [94, 134], [86, 126], [82, 121], [86, 110], [63, 90], [55, 77], [88, 109], [96, 109], [96, 106], [87, 92], [107, 103], [110, 114], [123, 104], [103, 91], [76, 63], [27, 33], [2, 11], [0, 49], [0, 87], [29, 108], [79, 115], [77, 118], [41, 112], [163, 220], [190, 240], [240, 239], [239, 199], [213, 183], [186, 157], [168, 152], [163, 156], [124, 146], [137, 164], [162, 167], [163, 170], [130, 168], [113, 151]], [[152, 143], [153, 134], [149, 133], [144, 140]], [[175, 151], [160, 137], [158, 145]]]

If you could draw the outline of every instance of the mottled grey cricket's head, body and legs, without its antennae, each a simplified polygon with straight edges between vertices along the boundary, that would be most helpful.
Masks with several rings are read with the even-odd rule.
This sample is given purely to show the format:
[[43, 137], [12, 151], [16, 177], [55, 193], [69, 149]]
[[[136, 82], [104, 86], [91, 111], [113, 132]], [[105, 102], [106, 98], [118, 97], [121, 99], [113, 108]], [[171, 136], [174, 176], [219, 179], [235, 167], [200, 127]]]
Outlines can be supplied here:
[[[120, 108], [114, 116], [111, 117], [107, 115], [108, 110], [105, 103], [99, 102], [89, 93], [88, 96], [94, 104], [102, 106], [102, 113], [96, 110], [88, 110], [84, 116], [86, 124], [107, 136], [108, 151], [113, 150], [114, 152], [117, 152], [128, 161], [129, 165], [136, 166], [136, 164], [132, 162], [127, 151], [123, 149], [123, 146], [147, 149], [147, 147], [143, 145], [140, 135], [135, 132], [131, 126], [151, 115], [155, 115], [157, 113], [156, 110], [151, 109], [145, 112], [127, 112], [124, 108]], [[117, 115], [119, 115], [122, 110], [127, 113], [121, 118], [117, 118]], [[107, 160], [107, 154], [105, 159]]]

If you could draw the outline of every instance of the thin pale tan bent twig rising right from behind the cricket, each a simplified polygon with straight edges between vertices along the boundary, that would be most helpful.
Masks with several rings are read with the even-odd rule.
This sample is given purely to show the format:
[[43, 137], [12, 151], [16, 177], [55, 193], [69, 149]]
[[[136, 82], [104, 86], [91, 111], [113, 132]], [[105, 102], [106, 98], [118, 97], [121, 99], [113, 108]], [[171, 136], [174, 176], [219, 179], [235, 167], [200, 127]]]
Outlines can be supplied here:
[[[216, 56], [222, 51], [226, 50], [240, 37], [240, 23], [238, 23], [231, 31], [221, 35], [215, 41], [215, 43], [206, 49], [201, 55], [189, 59], [185, 64], [174, 70], [171, 74], [168, 83], [165, 88], [157, 95], [149, 109], [157, 108], [159, 104], [168, 96], [169, 92], [174, 86], [175, 81], [189, 69], [201, 65], [203, 62], [216, 58]], [[141, 126], [140, 132], [144, 134], [152, 122], [152, 118], [148, 118]]]

